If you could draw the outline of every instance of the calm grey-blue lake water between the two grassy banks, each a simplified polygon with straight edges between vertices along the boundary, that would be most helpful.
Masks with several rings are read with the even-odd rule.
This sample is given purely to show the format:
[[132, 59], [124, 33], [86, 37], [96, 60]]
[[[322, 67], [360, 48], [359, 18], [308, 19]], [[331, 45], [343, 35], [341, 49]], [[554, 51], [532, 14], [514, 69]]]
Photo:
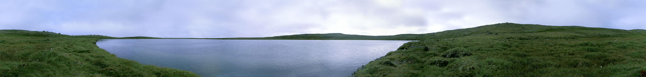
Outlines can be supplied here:
[[410, 40], [110, 39], [119, 58], [203, 77], [346, 77]]

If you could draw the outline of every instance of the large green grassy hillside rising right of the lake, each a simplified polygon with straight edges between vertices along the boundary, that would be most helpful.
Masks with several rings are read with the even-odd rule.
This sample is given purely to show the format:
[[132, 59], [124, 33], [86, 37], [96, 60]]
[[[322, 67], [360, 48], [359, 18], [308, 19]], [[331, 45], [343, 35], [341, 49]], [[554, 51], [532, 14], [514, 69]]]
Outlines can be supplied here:
[[[496, 35], [497, 33], [497, 35]], [[360, 67], [377, 76], [640, 76], [646, 30], [501, 23], [427, 33]]]

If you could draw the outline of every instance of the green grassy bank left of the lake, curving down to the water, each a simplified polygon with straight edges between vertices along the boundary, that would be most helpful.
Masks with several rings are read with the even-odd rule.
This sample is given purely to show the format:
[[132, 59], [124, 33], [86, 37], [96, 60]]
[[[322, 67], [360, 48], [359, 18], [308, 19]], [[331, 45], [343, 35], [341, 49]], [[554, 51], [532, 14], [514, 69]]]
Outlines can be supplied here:
[[97, 39], [123, 38], [0, 30], [0, 76], [198, 76], [189, 71], [117, 58], [96, 46]]

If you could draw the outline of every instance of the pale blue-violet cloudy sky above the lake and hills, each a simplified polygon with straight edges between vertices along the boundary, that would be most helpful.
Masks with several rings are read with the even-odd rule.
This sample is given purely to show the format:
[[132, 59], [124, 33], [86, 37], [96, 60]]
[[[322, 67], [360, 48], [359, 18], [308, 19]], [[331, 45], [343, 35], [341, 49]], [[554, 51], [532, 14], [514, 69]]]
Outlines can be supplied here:
[[110, 37], [397, 35], [514, 22], [646, 29], [644, 0], [0, 0], [0, 30]]

